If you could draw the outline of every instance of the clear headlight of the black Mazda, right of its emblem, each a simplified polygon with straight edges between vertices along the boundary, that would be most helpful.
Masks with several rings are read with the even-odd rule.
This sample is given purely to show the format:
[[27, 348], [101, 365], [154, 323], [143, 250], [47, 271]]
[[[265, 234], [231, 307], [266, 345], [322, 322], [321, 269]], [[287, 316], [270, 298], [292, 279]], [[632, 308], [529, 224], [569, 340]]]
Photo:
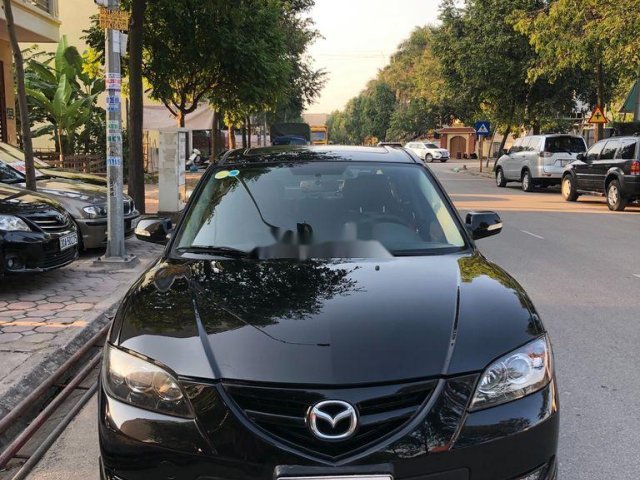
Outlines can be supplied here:
[[547, 337], [541, 337], [493, 362], [484, 371], [471, 410], [492, 407], [537, 392], [553, 376]]

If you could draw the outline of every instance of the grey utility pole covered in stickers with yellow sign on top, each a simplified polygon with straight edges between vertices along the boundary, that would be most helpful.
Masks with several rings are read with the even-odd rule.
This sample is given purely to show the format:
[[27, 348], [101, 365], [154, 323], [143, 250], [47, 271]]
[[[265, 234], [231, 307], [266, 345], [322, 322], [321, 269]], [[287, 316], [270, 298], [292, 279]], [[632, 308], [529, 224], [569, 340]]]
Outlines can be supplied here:
[[101, 5], [100, 22], [105, 28], [107, 90], [107, 251], [98, 259], [105, 263], [130, 263], [124, 244], [124, 195], [122, 166], [122, 112], [120, 71], [121, 29], [128, 28], [128, 14], [120, 12], [120, 0], [96, 0]]

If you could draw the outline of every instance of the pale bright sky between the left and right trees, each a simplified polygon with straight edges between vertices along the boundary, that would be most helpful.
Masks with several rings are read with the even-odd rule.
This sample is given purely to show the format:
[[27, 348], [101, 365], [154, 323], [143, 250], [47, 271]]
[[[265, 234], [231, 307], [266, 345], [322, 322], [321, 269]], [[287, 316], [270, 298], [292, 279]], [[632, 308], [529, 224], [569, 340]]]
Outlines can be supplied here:
[[308, 113], [331, 113], [358, 95], [417, 26], [435, 24], [440, 0], [316, 0], [311, 18], [324, 38], [309, 49], [328, 82]]

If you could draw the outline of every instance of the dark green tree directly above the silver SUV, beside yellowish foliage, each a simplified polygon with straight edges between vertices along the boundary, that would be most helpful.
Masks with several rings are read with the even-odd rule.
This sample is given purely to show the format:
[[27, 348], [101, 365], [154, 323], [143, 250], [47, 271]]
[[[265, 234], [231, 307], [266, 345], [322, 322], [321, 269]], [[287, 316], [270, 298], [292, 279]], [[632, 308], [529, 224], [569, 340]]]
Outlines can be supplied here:
[[510, 18], [543, 6], [543, 0], [466, 0], [463, 6], [454, 0], [443, 2], [435, 46], [445, 91], [449, 98], [463, 98], [467, 111], [457, 116], [466, 123], [489, 119], [502, 126], [501, 149], [513, 126], [525, 125], [539, 133], [546, 118], [570, 113], [581, 85], [575, 74], [553, 79], [529, 75], [536, 52]]

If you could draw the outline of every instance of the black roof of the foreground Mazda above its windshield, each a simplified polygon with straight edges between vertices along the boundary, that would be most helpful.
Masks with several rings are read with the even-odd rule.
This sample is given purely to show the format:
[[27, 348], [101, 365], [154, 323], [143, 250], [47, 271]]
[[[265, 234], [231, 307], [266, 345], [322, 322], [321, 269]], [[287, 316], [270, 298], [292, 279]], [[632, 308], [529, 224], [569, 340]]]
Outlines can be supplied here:
[[347, 145], [282, 145], [238, 149], [227, 152], [218, 162], [225, 163], [271, 163], [271, 162], [391, 162], [418, 163], [404, 148], [358, 147]]

